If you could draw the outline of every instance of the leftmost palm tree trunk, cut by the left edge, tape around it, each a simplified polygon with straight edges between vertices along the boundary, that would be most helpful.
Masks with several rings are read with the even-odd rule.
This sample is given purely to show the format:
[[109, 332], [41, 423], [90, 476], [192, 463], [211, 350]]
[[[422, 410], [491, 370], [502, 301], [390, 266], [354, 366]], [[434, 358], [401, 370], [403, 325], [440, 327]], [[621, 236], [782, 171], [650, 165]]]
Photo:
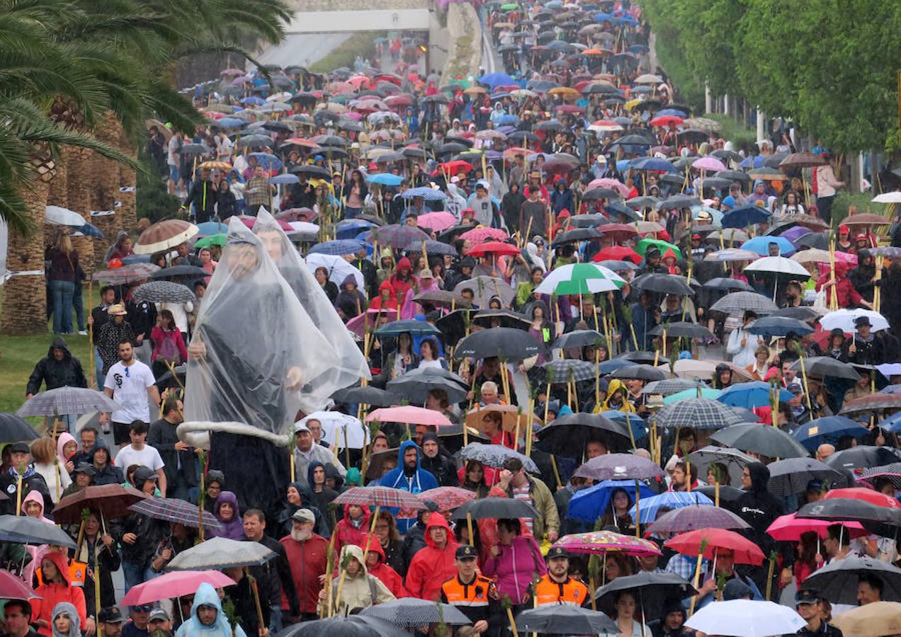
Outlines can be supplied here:
[[15, 274], [3, 286], [3, 316], [0, 333], [28, 335], [47, 333], [47, 288], [44, 283], [44, 209], [50, 193], [50, 180], [35, 178], [31, 188], [23, 189], [33, 222], [30, 237], [10, 230], [6, 268]]

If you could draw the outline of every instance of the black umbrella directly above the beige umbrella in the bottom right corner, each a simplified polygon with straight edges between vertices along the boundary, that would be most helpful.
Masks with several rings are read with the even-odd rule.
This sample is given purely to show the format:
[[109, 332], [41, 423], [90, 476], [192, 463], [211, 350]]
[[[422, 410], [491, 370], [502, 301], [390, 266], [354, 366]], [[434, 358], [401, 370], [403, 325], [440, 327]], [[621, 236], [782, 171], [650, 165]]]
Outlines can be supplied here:
[[833, 561], [805, 579], [805, 588], [818, 590], [833, 604], [857, 604], [857, 585], [863, 576], [875, 576], [882, 581], [884, 602], [901, 601], [901, 569], [888, 562], [870, 557], [849, 555]]

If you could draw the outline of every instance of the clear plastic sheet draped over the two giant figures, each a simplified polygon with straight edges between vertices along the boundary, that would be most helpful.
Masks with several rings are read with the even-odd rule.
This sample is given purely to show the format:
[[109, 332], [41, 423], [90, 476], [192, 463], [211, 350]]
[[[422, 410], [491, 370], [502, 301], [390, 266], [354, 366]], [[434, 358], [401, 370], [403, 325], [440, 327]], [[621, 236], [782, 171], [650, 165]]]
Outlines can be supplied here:
[[[265, 230], [258, 232], [268, 241]], [[203, 343], [205, 355], [188, 361], [187, 426], [179, 435], [205, 429], [287, 444], [298, 411], [325, 407], [335, 390], [366, 372], [347, 330], [335, 334], [328, 324], [327, 312], [339, 325], [340, 320], [324, 293], [320, 300], [307, 292], [318, 285], [299, 256], [295, 265], [282, 264], [286, 257], [291, 264], [296, 251], [280, 229], [278, 233], [287, 248], [280, 268], [269, 258], [276, 251], [264, 247], [240, 220], [232, 219], [229, 225], [222, 259], [197, 317], [195, 339]], [[303, 275], [309, 285], [298, 283]], [[319, 322], [326, 326], [324, 334]], [[197, 427], [201, 423], [204, 426]], [[208, 426], [216, 423], [231, 425]], [[196, 444], [193, 436], [183, 437]]]

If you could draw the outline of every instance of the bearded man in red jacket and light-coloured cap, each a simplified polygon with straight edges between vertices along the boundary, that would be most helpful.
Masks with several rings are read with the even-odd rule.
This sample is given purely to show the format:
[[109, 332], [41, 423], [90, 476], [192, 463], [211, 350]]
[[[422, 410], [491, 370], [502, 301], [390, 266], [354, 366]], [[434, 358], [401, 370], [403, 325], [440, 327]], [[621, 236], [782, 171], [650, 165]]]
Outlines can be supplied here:
[[[329, 543], [313, 533], [315, 523], [313, 511], [298, 508], [291, 516], [291, 534], [279, 540], [291, 565], [291, 578], [294, 579], [300, 601], [300, 621], [319, 618], [316, 605], [319, 603], [319, 591], [323, 588], [320, 576], [325, 574]], [[282, 610], [287, 611], [290, 606], [282, 591]]]

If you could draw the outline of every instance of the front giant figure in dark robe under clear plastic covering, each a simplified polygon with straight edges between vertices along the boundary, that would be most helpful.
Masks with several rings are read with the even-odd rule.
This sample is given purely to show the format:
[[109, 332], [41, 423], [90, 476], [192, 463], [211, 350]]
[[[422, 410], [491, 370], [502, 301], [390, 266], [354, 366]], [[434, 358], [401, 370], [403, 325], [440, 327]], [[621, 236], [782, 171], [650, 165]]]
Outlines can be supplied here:
[[259, 238], [232, 220], [188, 348], [179, 435], [206, 446], [195, 436], [210, 432], [211, 468], [257, 478], [236, 483], [241, 507], [278, 506], [291, 426], [343, 387], [338, 360]]

